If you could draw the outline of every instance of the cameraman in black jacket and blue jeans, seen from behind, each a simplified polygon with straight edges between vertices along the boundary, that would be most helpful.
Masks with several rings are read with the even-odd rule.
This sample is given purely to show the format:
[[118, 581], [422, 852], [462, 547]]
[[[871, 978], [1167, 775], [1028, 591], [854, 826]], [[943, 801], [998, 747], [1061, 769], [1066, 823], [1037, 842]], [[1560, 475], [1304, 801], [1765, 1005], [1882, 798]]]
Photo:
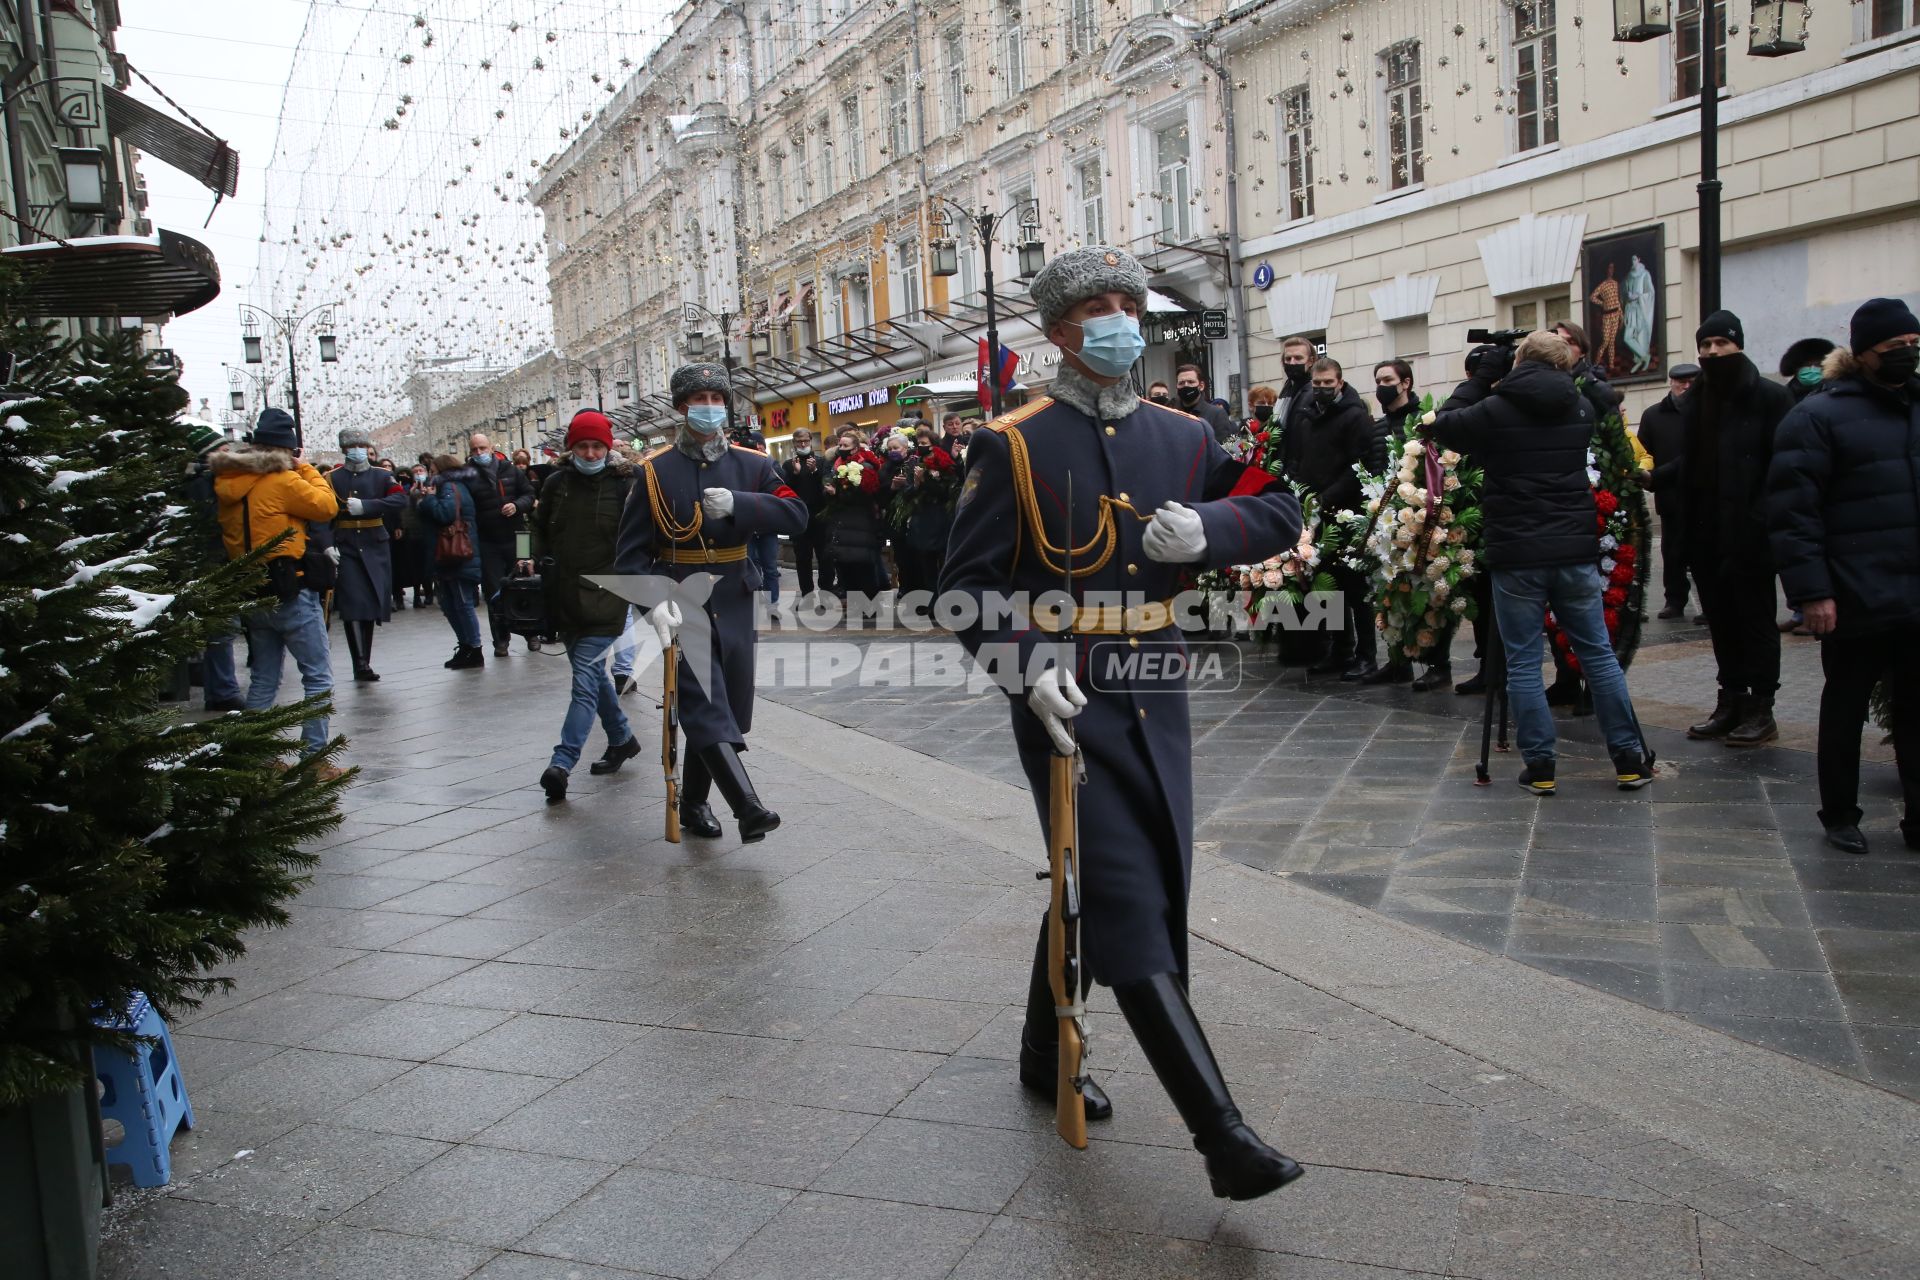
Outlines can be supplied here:
[[1480, 403], [1442, 411], [1430, 420], [1430, 432], [1446, 447], [1473, 453], [1486, 474], [1486, 566], [1507, 652], [1507, 697], [1526, 760], [1519, 781], [1534, 794], [1555, 789], [1553, 714], [1540, 681], [1551, 608], [1594, 693], [1615, 785], [1638, 791], [1653, 781], [1653, 760], [1626, 695], [1626, 676], [1613, 656], [1599, 599], [1597, 510], [1586, 478], [1594, 407], [1574, 386], [1572, 347], [1557, 334], [1528, 334], [1513, 359], [1513, 372]]

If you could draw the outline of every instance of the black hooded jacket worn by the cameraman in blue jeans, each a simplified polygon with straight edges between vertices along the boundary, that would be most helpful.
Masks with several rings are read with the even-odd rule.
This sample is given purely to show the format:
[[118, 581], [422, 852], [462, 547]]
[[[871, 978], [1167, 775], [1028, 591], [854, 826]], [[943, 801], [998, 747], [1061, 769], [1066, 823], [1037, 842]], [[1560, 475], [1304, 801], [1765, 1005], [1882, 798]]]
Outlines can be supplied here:
[[1442, 413], [1434, 438], [1471, 453], [1484, 472], [1480, 495], [1492, 568], [1596, 564], [1594, 489], [1586, 447], [1594, 407], [1572, 374], [1523, 361], [1478, 405]]

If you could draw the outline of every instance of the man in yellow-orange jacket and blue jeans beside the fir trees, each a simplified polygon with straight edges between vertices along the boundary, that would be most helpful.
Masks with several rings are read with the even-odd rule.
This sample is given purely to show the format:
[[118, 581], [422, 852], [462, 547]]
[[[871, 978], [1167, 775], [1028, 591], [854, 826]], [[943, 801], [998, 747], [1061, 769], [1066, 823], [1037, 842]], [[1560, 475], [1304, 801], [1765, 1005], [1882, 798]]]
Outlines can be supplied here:
[[[265, 409], [244, 445], [213, 455], [213, 493], [227, 557], [244, 557], [288, 533], [267, 560], [267, 583], [280, 603], [255, 608], [242, 620], [250, 649], [248, 710], [273, 706], [286, 654], [294, 654], [309, 699], [334, 689], [321, 593], [307, 585], [301, 562], [307, 558], [309, 522], [326, 524], [340, 503], [321, 472], [300, 461], [298, 445], [292, 415]], [[309, 720], [300, 739], [307, 756], [326, 747], [326, 716]]]

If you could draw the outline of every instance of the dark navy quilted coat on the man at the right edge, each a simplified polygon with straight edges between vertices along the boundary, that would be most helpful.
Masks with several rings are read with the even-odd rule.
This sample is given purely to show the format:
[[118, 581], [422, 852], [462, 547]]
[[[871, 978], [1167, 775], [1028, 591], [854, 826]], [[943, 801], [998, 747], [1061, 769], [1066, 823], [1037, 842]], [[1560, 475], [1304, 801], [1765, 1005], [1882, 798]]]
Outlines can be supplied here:
[[1901, 397], [1845, 347], [1786, 416], [1766, 522], [1788, 603], [1834, 601], [1839, 635], [1920, 628], [1920, 378]]

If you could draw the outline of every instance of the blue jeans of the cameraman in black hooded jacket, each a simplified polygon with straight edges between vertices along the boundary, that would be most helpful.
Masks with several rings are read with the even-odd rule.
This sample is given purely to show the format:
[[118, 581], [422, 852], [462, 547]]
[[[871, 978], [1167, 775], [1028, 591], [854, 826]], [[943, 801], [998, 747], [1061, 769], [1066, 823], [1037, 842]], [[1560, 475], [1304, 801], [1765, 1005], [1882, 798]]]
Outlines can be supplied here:
[[1607, 639], [1599, 591], [1599, 570], [1594, 564], [1494, 570], [1494, 618], [1507, 649], [1507, 700], [1513, 704], [1521, 756], [1528, 764], [1553, 760], [1553, 714], [1548, 710], [1546, 685], [1540, 683], [1548, 608], [1580, 658], [1580, 676], [1594, 695], [1594, 716], [1607, 737], [1607, 750], [1615, 756], [1640, 754], [1640, 722], [1626, 697], [1626, 676]]

